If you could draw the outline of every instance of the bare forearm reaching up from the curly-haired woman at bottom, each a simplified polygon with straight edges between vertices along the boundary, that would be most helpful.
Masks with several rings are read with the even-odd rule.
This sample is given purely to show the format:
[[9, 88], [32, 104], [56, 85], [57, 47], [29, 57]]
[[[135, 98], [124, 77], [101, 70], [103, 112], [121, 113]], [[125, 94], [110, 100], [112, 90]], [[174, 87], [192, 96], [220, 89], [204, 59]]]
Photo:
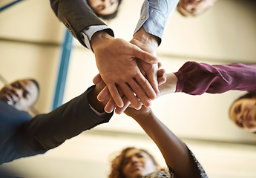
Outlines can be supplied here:
[[200, 177], [194, 157], [186, 145], [154, 116], [150, 108], [142, 107], [140, 111], [127, 108], [125, 114], [135, 119], [156, 143], [176, 177]]

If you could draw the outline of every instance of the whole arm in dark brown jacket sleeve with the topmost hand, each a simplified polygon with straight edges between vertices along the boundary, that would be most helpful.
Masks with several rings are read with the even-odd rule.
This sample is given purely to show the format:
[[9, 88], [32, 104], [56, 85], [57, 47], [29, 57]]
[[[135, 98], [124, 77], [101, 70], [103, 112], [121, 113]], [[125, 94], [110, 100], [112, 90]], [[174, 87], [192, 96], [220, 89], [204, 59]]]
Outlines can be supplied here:
[[140, 108], [141, 105], [134, 93], [142, 99], [144, 105], [149, 106], [150, 99], [154, 99], [156, 93], [140, 73], [135, 59], [154, 64], [157, 63], [157, 58], [125, 40], [114, 39], [111, 29], [106, 30], [104, 27], [90, 31], [92, 27], [100, 27], [104, 23], [93, 13], [85, 0], [51, 0], [51, 6], [70, 33], [95, 53], [99, 73], [116, 105], [123, 106], [116, 89], [118, 85], [135, 108]]

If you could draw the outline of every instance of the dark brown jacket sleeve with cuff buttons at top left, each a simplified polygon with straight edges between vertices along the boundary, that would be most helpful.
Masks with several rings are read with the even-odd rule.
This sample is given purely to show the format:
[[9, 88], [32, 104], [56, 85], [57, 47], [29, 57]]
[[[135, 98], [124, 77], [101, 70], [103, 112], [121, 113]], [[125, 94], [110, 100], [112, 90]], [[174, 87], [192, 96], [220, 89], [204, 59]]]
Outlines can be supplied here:
[[85, 46], [80, 32], [91, 25], [105, 24], [88, 6], [86, 0], [50, 0], [50, 5], [69, 32]]

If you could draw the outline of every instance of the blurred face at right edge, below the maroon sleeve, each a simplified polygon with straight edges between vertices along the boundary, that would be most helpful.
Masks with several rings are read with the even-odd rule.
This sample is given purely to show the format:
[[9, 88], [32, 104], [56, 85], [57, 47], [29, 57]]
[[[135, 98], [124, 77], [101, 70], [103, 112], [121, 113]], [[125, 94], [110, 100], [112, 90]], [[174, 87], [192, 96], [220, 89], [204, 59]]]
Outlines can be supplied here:
[[233, 103], [229, 112], [230, 119], [239, 128], [249, 132], [256, 131], [256, 99], [240, 99]]

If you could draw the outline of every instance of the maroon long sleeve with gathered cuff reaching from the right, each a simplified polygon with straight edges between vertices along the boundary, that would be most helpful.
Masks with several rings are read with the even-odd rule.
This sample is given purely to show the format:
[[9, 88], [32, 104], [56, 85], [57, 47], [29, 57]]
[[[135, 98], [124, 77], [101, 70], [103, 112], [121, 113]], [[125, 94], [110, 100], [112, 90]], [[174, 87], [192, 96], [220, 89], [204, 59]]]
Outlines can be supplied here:
[[228, 90], [256, 91], [256, 65], [186, 62], [174, 74], [178, 79], [176, 92], [200, 95]]

